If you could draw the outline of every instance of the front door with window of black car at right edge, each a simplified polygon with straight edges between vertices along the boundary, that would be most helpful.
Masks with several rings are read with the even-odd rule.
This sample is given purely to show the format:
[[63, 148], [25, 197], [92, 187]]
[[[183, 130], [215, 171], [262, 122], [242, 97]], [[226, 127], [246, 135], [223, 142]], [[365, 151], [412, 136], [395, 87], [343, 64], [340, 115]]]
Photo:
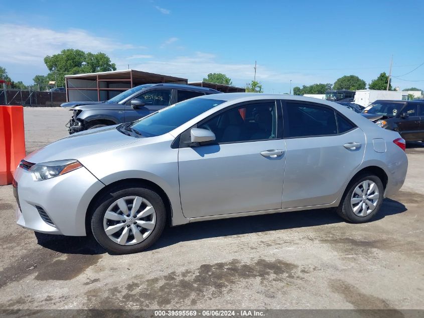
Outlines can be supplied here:
[[[402, 114], [406, 114], [405, 118], [401, 118]], [[405, 140], [421, 140], [422, 132], [420, 128], [421, 117], [418, 114], [418, 103], [408, 101], [400, 114], [397, 114], [397, 127], [400, 136]]]

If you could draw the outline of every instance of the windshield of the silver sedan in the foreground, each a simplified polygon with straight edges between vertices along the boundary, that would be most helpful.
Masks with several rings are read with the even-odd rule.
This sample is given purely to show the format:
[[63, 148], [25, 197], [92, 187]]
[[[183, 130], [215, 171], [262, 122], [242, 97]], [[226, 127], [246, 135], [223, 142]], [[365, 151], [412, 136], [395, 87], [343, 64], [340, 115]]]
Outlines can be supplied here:
[[127, 128], [144, 137], [163, 135], [223, 102], [225, 100], [196, 97], [187, 99], [139, 119]]

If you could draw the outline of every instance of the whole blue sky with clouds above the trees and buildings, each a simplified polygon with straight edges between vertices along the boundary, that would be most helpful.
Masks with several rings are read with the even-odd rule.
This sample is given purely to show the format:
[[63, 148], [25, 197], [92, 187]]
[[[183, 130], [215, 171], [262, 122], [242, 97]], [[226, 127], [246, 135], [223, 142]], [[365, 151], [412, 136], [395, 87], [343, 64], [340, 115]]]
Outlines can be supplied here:
[[[256, 79], [265, 92], [333, 83], [367, 83], [424, 62], [422, 0], [397, 1], [17, 1], [0, 16], [0, 65], [32, 83], [43, 58], [64, 48], [105, 52], [118, 69], [202, 80], [222, 72], [233, 84]], [[393, 78], [424, 89], [424, 65]]]

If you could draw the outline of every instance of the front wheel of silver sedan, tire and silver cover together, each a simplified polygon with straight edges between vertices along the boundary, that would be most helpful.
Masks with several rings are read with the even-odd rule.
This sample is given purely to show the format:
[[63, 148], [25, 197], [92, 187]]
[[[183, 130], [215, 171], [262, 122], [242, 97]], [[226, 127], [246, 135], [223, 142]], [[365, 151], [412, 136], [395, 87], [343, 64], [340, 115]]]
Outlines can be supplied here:
[[149, 248], [165, 228], [165, 204], [149, 188], [117, 187], [101, 196], [95, 206], [91, 218], [94, 238], [115, 254]]

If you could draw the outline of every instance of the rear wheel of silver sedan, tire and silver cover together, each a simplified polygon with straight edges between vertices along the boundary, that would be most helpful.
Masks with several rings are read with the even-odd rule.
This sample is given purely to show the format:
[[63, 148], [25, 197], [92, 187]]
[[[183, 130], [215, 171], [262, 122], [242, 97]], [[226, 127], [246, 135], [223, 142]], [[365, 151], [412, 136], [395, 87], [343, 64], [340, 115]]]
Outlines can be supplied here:
[[337, 214], [352, 223], [365, 223], [378, 213], [383, 202], [384, 187], [376, 175], [361, 175], [349, 183]]

